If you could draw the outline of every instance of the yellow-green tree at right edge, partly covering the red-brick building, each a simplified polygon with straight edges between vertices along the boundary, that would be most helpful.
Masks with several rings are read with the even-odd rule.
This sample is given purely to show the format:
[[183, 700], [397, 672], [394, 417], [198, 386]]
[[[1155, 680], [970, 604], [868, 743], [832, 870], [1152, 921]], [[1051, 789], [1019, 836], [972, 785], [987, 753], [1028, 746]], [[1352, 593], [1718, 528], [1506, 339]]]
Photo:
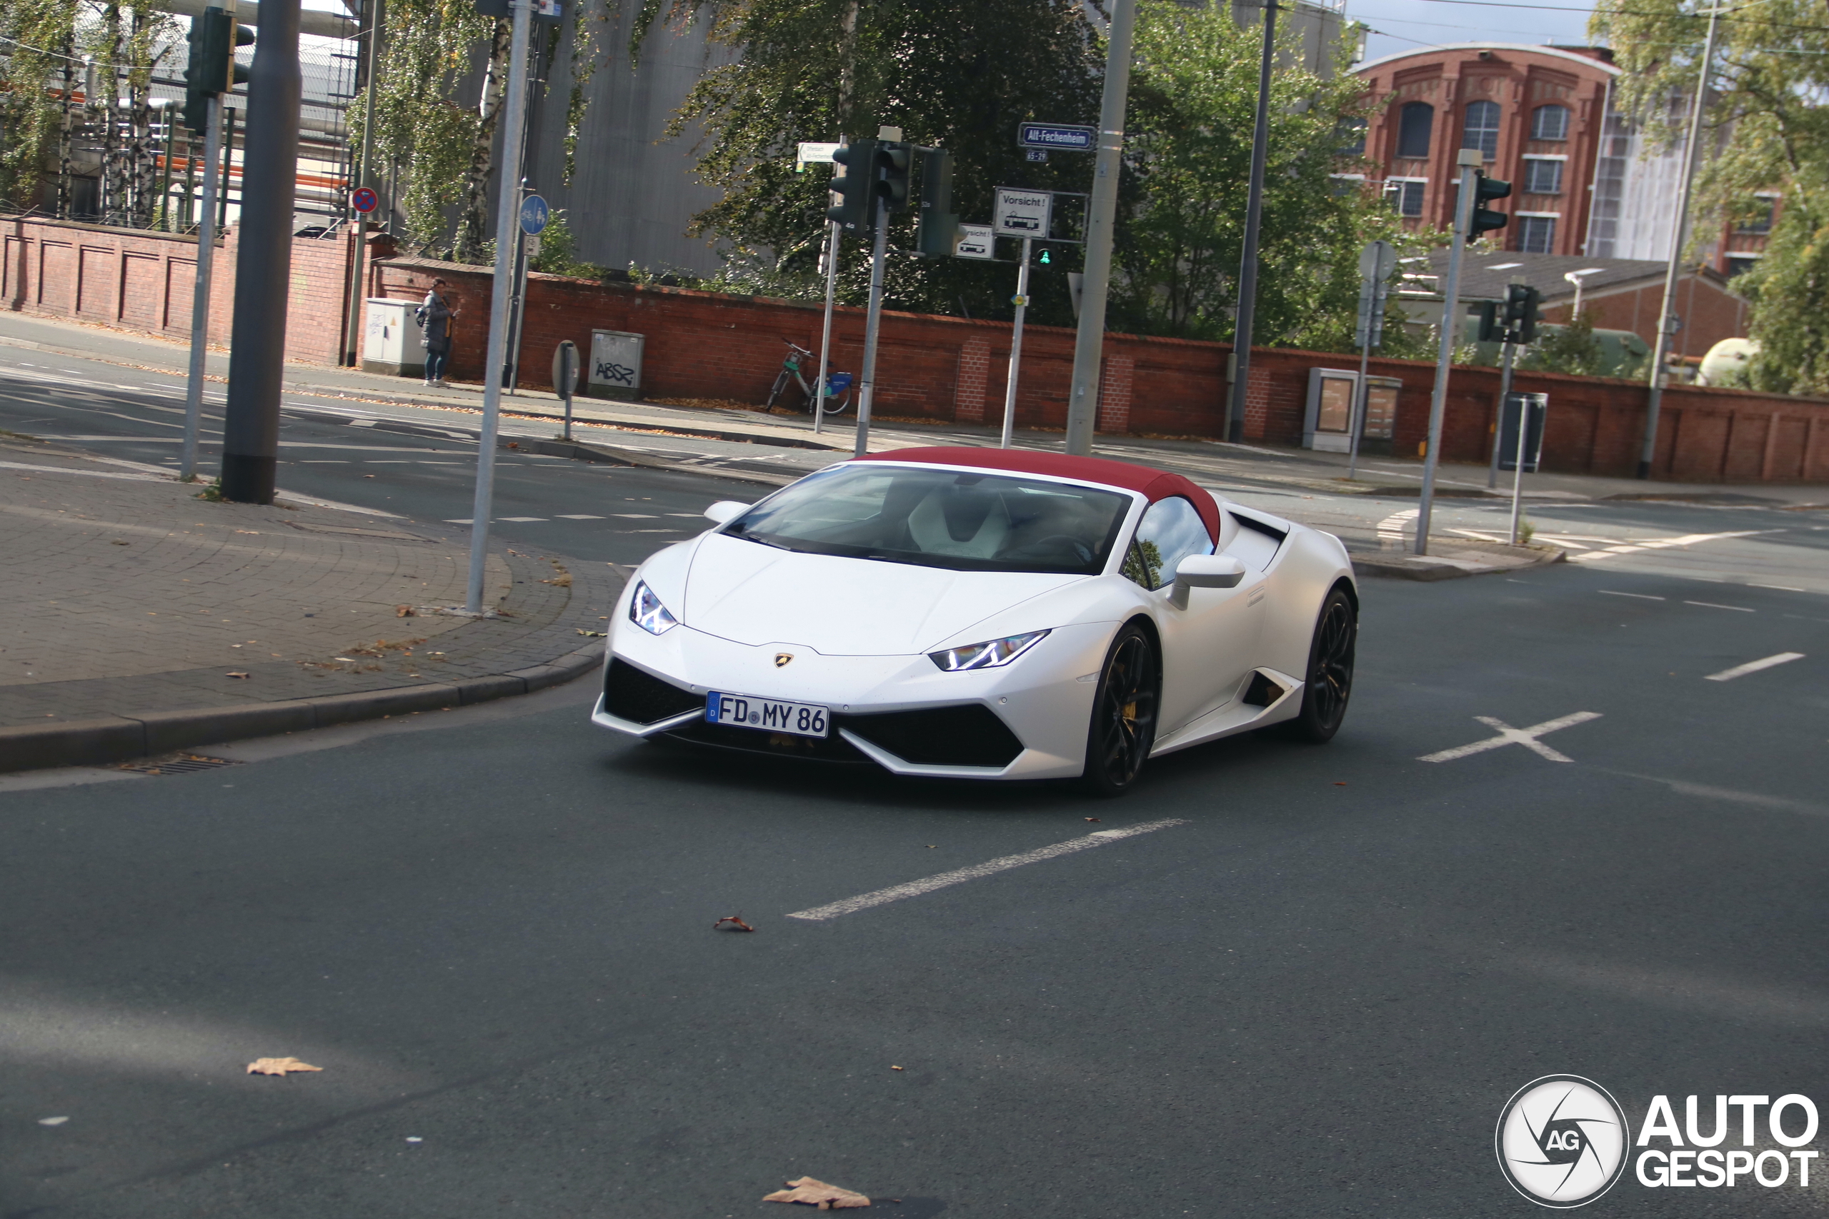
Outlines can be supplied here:
[[[1600, 0], [1589, 35], [1613, 48], [1620, 108], [1677, 141], [1701, 68], [1705, 4]], [[1752, 219], [1783, 196], [1765, 258], [1734, 285], [1752, 300], [1754, 387], [1829, 393], [1829, 22], [1814, 0], [1736, 5], [1719, 22], [1705, 111], [1692, 250], [1721, 221]]]

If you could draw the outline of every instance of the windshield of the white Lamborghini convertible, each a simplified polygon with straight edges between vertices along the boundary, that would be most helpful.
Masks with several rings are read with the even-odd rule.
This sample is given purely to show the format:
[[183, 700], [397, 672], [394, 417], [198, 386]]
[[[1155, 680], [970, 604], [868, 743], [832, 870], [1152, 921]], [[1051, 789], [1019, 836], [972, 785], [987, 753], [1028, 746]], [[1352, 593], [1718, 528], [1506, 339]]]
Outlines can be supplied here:
[[724, 526], [783, 550], [960, 572], [1097, 576], [1130, 497], [931, 466], [840, 466]]

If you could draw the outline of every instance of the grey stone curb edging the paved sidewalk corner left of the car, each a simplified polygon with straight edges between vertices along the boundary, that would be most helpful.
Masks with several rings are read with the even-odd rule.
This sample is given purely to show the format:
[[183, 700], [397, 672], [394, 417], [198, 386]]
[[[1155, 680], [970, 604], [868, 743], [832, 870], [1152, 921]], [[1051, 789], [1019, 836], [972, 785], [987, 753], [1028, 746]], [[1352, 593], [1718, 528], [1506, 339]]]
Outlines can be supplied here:
[[530, 669], [463, 682], [395, 685], [358, 694], [326, 694], [291, 702], [258, 702], [194, 711], [106, 715], [66, 724], [0, 727], [0, 773], [48, 766], [106, 766], [172, 749], [212, 746], [276, 733], [379, 720], [388, 715], [470, 707], [510, 694], [560, 685], [604, 663], [604, 645], [582, 647]]

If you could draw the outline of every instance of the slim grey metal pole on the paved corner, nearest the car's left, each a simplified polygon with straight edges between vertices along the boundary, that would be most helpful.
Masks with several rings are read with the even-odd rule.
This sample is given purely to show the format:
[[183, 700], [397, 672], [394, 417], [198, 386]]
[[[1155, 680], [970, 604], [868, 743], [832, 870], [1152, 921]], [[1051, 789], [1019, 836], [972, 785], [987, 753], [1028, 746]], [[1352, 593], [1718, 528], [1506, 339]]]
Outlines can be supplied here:
[[521, 126], [527, 122], [527, 27], [532, 0], [514, 4], [514, 37], [508, 44], [508, 115], [501, 133], [501, 166], [496, 192], [496, 278], [488, 298], [488, 353], [483, 358], [483, 435], [476, 450], [476, 506], [470, 512], [470, 590], [465, 609], [483, 612], [483, 565], [488, 559], [488, 512], [496, 497], [496, 431], [501, 424], [501, 376], [508, 353], [508, 294], [514, 243], [519, 232]]

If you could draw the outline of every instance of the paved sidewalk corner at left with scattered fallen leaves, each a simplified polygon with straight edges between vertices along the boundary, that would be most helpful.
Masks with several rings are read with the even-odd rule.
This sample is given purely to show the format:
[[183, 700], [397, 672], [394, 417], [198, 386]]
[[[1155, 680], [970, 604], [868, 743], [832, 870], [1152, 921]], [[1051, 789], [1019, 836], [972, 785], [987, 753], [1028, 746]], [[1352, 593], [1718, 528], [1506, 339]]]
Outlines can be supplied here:
[[[426, 713], [596, 667], [609, 565], [490, 556], [463, 530], [225, 504], [137, 462], [0, 440], [0, 771]], [[315, 501], [322, 504], [322, 501]], [[24, 612], [20, 612], [24, 610]]]

